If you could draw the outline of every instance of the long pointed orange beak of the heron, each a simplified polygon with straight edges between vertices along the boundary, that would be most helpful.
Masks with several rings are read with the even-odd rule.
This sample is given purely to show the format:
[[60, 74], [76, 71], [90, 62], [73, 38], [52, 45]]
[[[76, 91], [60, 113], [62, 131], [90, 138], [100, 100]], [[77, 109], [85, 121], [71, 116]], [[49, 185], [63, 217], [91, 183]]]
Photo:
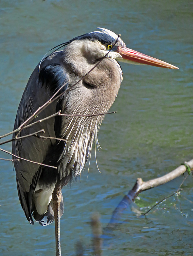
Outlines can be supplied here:
[[160, 67], [160, 68], [168, 68], [168, 69], [179, 69], [167, 62], [164, 62], [159, 59], [155, 59], [153, 57], [150, 57], [148, 55], [145, 55], [143, 53], [139, 53], [137, 51], [131, 50], [129, 48], [122, 48], [117, 46], [117, 52], [121, 54], [122, 58], [125, 60], [130, 60], [146, 65], [151, 65], [155, 67]]

